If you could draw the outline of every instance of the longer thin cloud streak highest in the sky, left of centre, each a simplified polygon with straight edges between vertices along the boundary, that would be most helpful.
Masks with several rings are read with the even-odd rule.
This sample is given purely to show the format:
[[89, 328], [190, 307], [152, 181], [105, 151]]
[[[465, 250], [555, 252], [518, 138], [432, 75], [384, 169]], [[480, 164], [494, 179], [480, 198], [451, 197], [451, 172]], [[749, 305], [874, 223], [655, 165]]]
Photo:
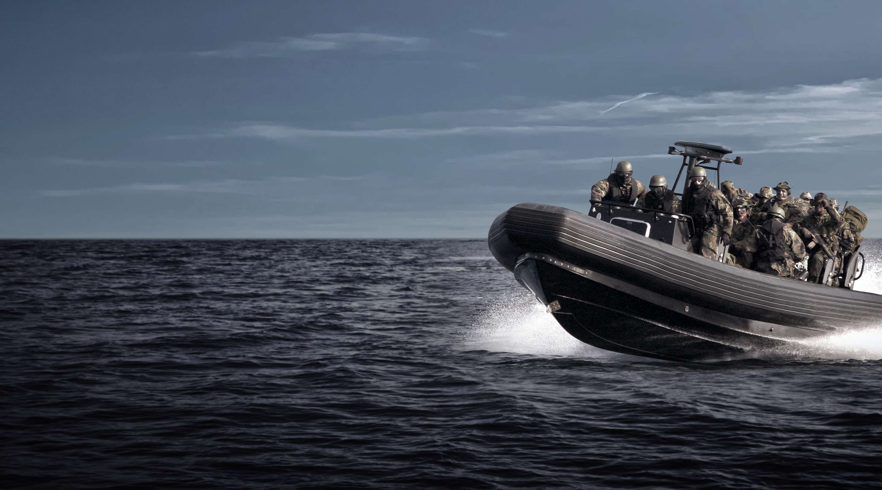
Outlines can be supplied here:
[[302, 37], [280, 37], [275, 41], [243, 41], [227, 48], [196, 51], [191, 54], [224, 58], [282, 58], [303, 51], [333, 51], [348, 48], [411, 51], [428, 45], [429, 40], [422, 37], [379, 33], [317, 33]]

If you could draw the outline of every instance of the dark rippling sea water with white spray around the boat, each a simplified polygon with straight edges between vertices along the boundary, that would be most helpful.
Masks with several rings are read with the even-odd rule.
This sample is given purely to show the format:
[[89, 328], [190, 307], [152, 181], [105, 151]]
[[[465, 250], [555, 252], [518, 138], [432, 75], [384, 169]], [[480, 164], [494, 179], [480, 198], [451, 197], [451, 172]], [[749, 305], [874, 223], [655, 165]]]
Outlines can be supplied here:
[[0, 481], [879, 487], [880, 359], [600, 351], [484, 241], [0, 241]]

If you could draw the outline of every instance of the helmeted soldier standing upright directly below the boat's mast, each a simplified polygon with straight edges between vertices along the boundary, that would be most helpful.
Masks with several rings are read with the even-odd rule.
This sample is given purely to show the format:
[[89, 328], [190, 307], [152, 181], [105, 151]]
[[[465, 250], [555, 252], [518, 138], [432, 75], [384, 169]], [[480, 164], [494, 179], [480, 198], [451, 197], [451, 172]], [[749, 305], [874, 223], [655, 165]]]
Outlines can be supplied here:
[[732, 206], [729, 200], [707, 182], [704, 167], [692, 167], [689, 185], [683, 191], [683, 212], [692, 217], [695, 253], [717, 260], [717, 244], [729, 245], [732, 234]]

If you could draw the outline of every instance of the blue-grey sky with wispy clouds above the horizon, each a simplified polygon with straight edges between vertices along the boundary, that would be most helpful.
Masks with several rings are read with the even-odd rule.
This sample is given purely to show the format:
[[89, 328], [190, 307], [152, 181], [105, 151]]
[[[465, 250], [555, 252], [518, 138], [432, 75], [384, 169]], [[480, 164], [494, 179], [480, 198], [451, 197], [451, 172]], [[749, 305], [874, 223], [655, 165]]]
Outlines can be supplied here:
[[744, 157], [882, 236], [882, 2], [0, 4], [0, 238], [483, 238]]

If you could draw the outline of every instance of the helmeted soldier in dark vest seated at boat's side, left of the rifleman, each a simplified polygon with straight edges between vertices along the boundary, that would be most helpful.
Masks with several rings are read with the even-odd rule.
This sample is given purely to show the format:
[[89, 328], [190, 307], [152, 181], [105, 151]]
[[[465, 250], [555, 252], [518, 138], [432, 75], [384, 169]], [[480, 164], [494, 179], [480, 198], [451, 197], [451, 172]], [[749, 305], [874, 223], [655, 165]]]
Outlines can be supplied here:
[[757, 237], [756, 270], [789, 278], [796, 271], [796, 262], [805, 258], [803, 241], [793, 228], [784, 225], [784, 210], [780, 206], [772, 206], [767, 214]]

